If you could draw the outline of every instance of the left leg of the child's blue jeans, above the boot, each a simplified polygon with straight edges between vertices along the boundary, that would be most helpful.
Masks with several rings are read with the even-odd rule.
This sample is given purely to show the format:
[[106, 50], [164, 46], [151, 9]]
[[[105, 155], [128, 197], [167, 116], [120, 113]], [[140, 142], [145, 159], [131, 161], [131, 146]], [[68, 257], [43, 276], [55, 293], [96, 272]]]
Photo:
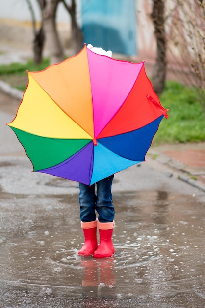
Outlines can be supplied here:
[[95, 204], [95, 184], [88, 186], [79, 183], [79, 205], [80, 205], [80, 219], [82, 222], [90, 222], [96, 220]]

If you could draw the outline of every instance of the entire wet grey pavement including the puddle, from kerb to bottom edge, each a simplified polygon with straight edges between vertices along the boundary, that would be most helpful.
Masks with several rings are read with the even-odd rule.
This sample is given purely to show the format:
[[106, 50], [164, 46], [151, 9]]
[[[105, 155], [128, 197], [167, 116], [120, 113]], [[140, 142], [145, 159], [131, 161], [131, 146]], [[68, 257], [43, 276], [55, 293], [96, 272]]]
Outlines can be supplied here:
[[116, 174], [115, 255], [83, 259], [78, 185], [31, 172], [4, 124], [18, 104], [0, 92], [0, 307], [205, 307], [205, 144]]

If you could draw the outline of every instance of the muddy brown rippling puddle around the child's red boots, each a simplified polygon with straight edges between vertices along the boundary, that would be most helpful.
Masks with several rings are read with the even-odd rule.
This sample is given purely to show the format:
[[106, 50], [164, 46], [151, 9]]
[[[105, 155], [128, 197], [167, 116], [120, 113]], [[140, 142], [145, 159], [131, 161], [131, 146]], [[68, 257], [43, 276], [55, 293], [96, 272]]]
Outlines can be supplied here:
[[[3, 242], [0, 281], [38, 296], [127, 299], [198, 292], [203, 297], [204, 205], [165, 191], [115, 193], [114, 203], [112, 258], [77, 255], [83, 237], [73, 215], [76, 221], [66, 220], [59, 229], [32, 224], [25, 236]], [[47, 219], [54, 219], [49, 212]]]

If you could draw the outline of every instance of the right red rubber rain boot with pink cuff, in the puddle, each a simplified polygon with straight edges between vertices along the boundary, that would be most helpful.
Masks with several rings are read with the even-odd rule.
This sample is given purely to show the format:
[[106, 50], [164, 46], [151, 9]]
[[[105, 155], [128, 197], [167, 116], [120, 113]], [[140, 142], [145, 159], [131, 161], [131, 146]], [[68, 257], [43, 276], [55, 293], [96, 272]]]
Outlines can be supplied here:
[[115, 249], [112, 243], [112, 232], [114, 225], [114, 221], [98, 222], [100, 245], [93, 254], [94, 258], [110, 258], [115, 253]]

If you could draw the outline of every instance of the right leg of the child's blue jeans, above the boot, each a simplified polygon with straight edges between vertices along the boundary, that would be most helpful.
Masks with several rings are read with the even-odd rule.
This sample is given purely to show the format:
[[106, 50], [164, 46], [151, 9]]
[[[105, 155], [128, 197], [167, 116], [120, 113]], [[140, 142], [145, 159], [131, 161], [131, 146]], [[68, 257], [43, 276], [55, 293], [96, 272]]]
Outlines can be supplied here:
[[115, 209], [112, 204], [112, 180], [114, 175], [111, 175], [96, 183], [97, 185], [97, 201], [96, 211], [99, 214], [100, 222], [112, 222], [115, 216]]

